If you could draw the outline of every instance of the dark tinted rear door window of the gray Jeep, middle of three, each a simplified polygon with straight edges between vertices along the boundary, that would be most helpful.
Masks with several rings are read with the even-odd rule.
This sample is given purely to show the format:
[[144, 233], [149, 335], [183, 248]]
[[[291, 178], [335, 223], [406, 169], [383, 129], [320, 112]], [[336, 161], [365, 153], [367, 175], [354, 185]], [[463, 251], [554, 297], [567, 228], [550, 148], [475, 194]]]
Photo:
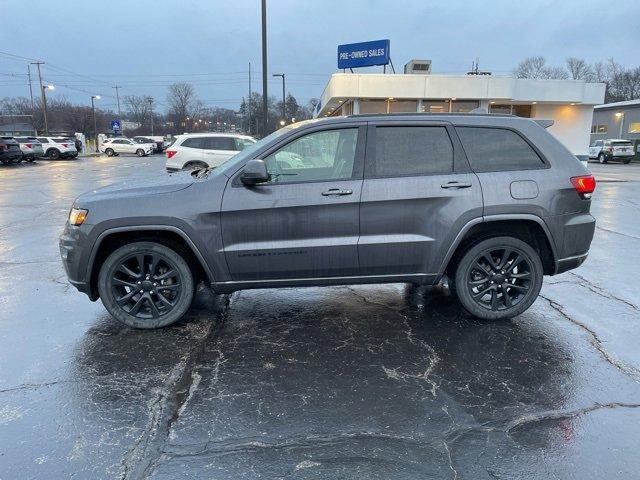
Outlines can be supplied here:
[[453, 145], [445, 127], [376, 127], [375, 158], [368, 177], [453, 172]]

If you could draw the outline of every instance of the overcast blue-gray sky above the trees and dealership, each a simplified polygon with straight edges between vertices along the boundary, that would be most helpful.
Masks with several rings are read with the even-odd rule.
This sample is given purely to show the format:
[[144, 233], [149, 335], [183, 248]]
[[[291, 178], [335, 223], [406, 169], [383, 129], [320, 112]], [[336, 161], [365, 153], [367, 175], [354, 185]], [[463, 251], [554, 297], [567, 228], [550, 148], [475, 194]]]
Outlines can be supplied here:
[[[434, 73], [464, 73], [476, 57], [494, 74], [531, 55], [557, 65], [569, 56], [640, 64], [637, 0], [615, 8], [584, 0], [267, 3], [269, 74], [285, 72], [302, 103], [337, 71], [338, 44], [382, 38], [398, 72], [411, 58], [433, 60]], [[260, 0], [2, 0], [0, 18], [0, 51], [46, 62], [51, 95], [77, 103], [100, 94], [115, 109], [110, 86], [118, 84], [122, 96], [151, 95], [164, 109], [166, 86], [184, 80], [208, 106], [237, 108], [249, 62], [254, 90], [262, 89]], [[0, 98], [28, 96], [27, 63], [0, 54]], [[279, 82], [269, 83], [278, 98]]]

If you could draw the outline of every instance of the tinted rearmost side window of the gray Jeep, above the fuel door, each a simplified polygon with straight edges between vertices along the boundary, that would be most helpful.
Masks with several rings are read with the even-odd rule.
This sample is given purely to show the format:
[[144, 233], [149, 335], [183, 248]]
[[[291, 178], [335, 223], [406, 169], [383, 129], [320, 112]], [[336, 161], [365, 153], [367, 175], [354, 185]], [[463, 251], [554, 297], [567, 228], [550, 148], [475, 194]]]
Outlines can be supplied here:
[[475, 172], [543, 168], [536, 151], [517, 133], [503, 128], [457, 127]]

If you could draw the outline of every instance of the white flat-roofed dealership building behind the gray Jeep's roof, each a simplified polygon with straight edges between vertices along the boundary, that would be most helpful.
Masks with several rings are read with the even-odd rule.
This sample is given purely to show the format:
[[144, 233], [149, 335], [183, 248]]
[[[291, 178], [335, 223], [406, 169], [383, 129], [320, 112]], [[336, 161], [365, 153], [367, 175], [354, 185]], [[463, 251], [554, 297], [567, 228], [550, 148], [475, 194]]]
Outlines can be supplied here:
[[[420, 66], [412, 61], [408, 67]], [[580, 80], [522, 79], [490, 74], [335, 73], [324, 88], [316, 116], [367, 113], [470, 112], [553, 120], [549, 131], [586, 160], [594, 106], [605, 85]]]

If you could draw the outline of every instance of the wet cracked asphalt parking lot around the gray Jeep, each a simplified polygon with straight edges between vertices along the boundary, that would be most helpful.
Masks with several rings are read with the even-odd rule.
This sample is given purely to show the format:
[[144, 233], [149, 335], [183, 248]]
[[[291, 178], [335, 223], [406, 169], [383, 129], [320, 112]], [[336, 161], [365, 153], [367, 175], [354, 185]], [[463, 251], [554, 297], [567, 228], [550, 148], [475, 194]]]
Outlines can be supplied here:
[[640, 477], [640, 165], [590, 164], [590, 257], [512, 321], [445, 287], [201, 289], [136, 331], [57, 238], [77, 195], [163, 166], [0, 166], [0, 480]]

